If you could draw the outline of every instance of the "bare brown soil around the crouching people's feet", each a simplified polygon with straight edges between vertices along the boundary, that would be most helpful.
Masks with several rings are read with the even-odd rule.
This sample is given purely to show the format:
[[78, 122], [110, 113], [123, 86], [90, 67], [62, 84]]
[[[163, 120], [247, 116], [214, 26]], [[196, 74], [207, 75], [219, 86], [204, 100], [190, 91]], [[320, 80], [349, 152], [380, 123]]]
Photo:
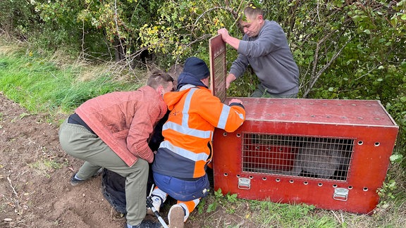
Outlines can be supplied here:
[[[0, 92], [0, 227], [124, 227], [123, 215], [103, 196], [101, 177], [70, 185], [82, 161], [59, 145], [55, 122], [65, 118], [47, 121], [49, 115], [32, 115]], [[258, 227], [221, 211], [195, 211], [185, 227], [227, 224]]]

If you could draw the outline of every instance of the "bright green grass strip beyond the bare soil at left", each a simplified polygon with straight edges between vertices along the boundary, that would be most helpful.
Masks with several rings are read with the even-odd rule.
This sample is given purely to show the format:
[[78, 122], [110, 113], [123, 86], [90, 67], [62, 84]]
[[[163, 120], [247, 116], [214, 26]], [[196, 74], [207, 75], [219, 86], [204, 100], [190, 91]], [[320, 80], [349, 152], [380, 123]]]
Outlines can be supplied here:
[[141, 82], [115, 80], [114, 72], [94, 71], [98, 75], [83, 79], [83, 75], [91, 72], [85, 72], [82, 65], [62, 68], [22, 51], [13, 55], [0, 54], [1, 91], [32, 113], [69, 112], [94, 96], [142, 86]]

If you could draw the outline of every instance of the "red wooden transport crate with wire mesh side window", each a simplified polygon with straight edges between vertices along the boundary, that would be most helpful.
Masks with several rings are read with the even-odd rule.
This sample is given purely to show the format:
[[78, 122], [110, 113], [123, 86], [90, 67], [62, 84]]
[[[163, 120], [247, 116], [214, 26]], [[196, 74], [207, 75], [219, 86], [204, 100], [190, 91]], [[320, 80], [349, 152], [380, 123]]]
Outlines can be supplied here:
[[216, 191], [373, 212], [398, 134], [379, 101], [238, 99], [245, 123], [214, 132]]

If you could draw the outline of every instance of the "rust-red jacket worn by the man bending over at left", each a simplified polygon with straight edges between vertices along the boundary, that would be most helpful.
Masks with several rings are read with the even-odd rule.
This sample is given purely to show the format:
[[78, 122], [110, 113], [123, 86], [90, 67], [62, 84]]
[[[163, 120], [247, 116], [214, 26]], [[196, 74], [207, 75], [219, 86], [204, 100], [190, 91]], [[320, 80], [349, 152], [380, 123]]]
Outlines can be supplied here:
[[128, 165], [138, 158], [152, 163], [148, 139], [167, 111], [164, 99], [149, 86], [97, 96], [75, 113]]

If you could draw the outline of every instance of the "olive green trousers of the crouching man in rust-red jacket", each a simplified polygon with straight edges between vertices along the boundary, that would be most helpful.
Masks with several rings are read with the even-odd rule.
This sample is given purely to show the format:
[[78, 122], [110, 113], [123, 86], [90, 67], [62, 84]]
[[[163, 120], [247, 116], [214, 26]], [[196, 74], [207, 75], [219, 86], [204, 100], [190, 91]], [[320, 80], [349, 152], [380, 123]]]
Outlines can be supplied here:
[[147, 211], [148, 162], [138, 158], [133, 166], [128, 167], [96, 134], [67, 120], [59, 129], [59, 141], [66, 153], [85, 161], [77, 174], [80, 179], [89, 179], [101, 167], [125, 177], [127, 223], [140, 224]]

